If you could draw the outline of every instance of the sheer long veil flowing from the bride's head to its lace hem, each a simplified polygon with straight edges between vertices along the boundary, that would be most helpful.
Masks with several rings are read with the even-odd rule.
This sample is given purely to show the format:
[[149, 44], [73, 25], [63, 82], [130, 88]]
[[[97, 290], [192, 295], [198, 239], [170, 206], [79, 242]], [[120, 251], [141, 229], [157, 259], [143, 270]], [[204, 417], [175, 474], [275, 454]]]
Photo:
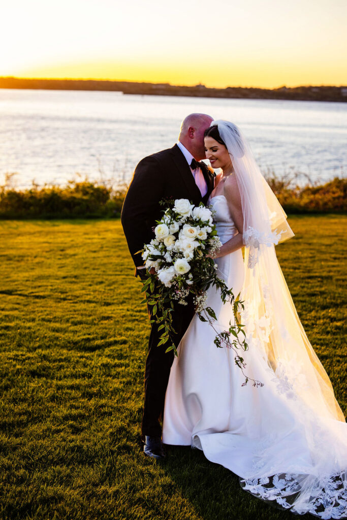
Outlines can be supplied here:
[[[275, 446], [260, 449], [254, 453], [258, 466], [240, 479], [241, 486], [295, 513], [343, 518], [347, 514], [345, 419], [328, 375], [307, 339], [275, 253], [274, 246], [293, 237], [293, 232], [240, 129], [222, 120], [213, 121], [214, 125], [230, 154], [242, 203], [245, 281], [240, 299], [245, 310], [241, 322], [249, 345], [245, 359], [263, 359], [273, 374], [277, 394], [287, 403], [295, 428], [301, 432], [299, 459], [301, 445], [307, 448], [305, 462], [293, 459], [295, 473], [287, 469], [276, 474], [271, 473], [269, 459], [279, 460], [282, 454], [270, 454]], [[266, 389], [258, 388], [257, 392]], [[281, 412], [278, 410], [279, 416]]]

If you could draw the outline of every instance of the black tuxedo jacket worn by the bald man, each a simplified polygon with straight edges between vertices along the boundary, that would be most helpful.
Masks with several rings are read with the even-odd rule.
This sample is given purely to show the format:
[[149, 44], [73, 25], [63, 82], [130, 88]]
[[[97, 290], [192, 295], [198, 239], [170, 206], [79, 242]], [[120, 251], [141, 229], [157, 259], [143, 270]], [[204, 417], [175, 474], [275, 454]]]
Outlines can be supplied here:
[[172, 197], [188, 199], [195, 205], [201, 201], [207, 203], [214, 187], [215, 174], [208, 166], [202, 168], [202, 173], [208, 187], [203, 198], [177, 145], [153, 153], [138, 163], [121, 215], [124, 235], [136, 267], [144, 265], [144, 261], [140, 254], [135, 253], [155, 238], [152, 228], [156, 226], [156, 220], [162, 217], [160, 200]]

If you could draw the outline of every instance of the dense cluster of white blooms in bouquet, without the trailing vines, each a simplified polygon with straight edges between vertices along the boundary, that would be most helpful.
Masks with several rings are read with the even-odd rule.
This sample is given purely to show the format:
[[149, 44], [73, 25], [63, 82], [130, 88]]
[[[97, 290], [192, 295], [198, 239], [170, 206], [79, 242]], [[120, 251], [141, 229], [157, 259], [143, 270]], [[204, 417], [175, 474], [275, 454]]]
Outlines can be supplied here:
[[173, 300], [187, 305], [186, 298], [193, 293], [201, 308], [205, 291], [220, 281], [215, 274], [217, 266], [206, 257], [222, 245], [212, 212], [202, 203], [194, 206], [187, 199], [177, 199], [157, 223], [156, 238], [142, 253], [146, 268], [155, 268], [163, 292]]

